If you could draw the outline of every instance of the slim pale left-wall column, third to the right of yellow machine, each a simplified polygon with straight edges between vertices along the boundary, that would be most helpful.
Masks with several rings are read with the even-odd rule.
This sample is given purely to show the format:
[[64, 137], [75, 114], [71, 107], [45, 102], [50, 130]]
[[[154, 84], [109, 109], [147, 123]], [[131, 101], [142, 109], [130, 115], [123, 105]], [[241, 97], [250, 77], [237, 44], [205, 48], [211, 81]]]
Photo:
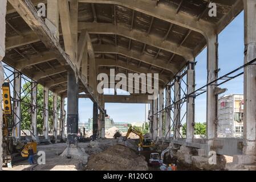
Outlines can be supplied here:
[[49, 139], [49, 111], [48, 111], [48, 102], [49, 102], [49, 89], [43, 88], [43, 135], [46, 140]]

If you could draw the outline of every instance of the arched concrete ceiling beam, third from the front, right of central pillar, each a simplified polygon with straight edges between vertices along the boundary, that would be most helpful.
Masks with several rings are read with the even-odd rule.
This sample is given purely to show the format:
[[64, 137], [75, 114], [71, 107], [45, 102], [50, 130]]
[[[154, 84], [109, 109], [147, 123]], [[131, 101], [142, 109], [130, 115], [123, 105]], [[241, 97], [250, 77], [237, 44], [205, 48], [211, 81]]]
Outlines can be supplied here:
[[157, 68], [168, 70], [169, 72], [172, 72], [173, 75], [175, 75], [178, 72], [177, 65], [175, 64], [167, 64], [166, 61], [164, 60], [154, 59], [153, 57], [148, 55], [141, 55], [140, 52], [130, 51], [127, 48], [110, 45], [97, 45], [94, 46], [94, 50], [95, 53], [118, 53], [120, 55], [142, 61], [143, 63], [151, 64]]

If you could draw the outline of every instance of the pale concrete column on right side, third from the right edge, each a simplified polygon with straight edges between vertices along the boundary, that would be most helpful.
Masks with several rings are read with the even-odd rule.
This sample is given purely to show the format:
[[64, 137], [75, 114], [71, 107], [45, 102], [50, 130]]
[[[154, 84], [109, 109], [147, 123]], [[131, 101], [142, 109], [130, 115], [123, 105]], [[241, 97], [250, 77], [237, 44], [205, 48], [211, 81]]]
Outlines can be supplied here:
[[[195, 90], [195, 63], [188, 63], [188, 73], [186, 77], [186, 84], [188, 85], [187, 94]], [[186, 142], [192, 142], [194, 138], [194, 94], [188, 96], [186, 99]]]

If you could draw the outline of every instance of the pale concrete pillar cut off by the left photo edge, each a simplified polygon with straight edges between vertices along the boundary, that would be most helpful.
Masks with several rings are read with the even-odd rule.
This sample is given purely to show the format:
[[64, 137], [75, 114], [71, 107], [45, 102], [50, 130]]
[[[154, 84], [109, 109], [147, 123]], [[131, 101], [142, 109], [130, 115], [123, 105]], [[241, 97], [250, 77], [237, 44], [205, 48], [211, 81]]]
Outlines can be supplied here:
[[[2, 0], [1, 1], [1, 6], [0, 6], [0, 85], [2, 86], [3, 81], [5, 77], [3, 76], [3, 65], [2, 65], [2, 59], [5, 57], [5, 15], [6, 15], [6, 5], [7, 1]], [[2, 164], [3, 164], [3, 148], [2, 148], [2, 141], [3, 141], [3, 136], [2, 136], [2, 125], [3, 125], [3, 113], [2, 113], [2, 94], [0, 94], [0, 171], [2, 171]]]

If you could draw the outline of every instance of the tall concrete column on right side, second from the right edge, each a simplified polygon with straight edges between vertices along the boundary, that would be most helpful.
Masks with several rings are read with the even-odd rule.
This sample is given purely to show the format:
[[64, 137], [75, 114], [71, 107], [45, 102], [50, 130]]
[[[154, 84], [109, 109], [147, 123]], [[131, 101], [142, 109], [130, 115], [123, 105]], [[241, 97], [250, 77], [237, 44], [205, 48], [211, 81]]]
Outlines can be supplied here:
[[[218, 36], [212, 35], [208, 38], [207, 49], [207, 82], [212, 82], [218, 78]], [[212, 141], [217, 137], [217, 101], [218, 96], [214, 93], [217, 83], [213, 83], [207, 87], [206, 99], [206, 133], [207, 138]]]

